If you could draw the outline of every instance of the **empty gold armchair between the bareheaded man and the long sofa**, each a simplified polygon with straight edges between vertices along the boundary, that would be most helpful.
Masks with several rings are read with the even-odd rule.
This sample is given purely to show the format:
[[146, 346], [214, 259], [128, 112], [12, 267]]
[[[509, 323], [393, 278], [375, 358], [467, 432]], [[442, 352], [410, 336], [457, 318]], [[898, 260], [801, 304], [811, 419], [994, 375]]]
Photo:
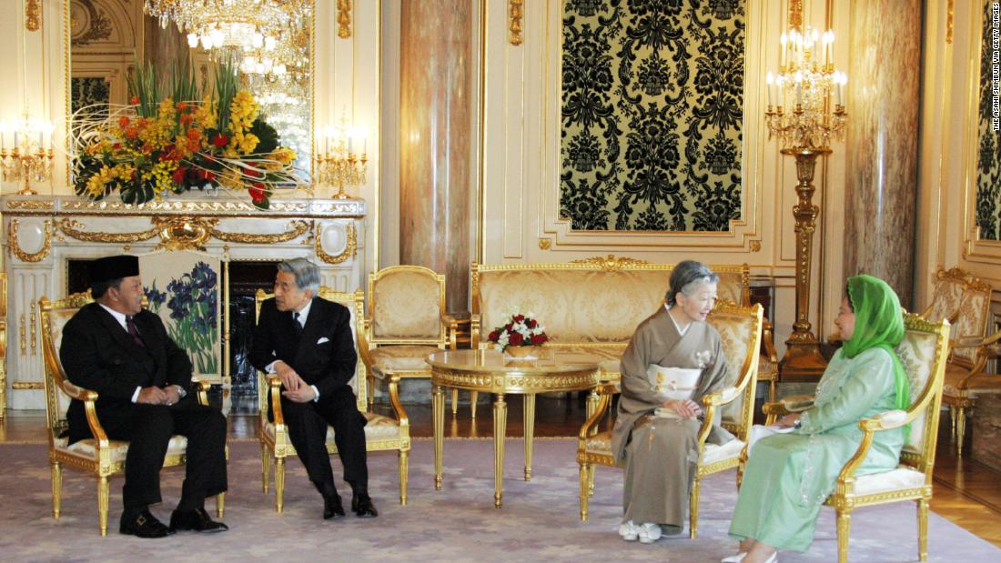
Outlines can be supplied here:
[[[445, 314], [444, 276], [422, 266], [390, 266], [368, 274], [364, 354], [368, 383], [374, 379], [429, 379], [429, 354], [456, 347], [457, 321]], [[452, 389], [455, 414], [457, 390]], [[368, 395], [368, 403], [372, 402]], [[475, 416], [475, 396], [472, 401]]]

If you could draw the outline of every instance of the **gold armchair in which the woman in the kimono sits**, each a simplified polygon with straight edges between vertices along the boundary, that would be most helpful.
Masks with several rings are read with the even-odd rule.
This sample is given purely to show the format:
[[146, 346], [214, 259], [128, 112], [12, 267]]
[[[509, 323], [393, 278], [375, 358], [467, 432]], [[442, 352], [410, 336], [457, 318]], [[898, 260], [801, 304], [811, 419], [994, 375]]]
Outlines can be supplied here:
[[[699, 532], [699, 490], [702, 479], [713, 473], [740, 466], [741, 452], [747, 443], [754, 416], [754, 400], [758, 377], [758, 360], [761, 357], [762, 307], [744, 307], [730, 303], [720, 303], [713, 309], [708, 322], [716, 327], [722, 340], [727, 365], [740, 366], [731, 386], [711, 393], [703, 398], [706, 418], [699, 430], [699, 462], [689, 497], [689, 536], [696, 538]], [[581, 479], [581, 520], [588, 519], [588, 498], [594, 492], [595, 468], [597, 465], [615, 466], [612, 455], [612, 433], [598, 432], [596, 427], [606, 415], [612, 395], [619, 393], [618, 383], [602, 385], [597, 390], [598, 406], [578, 434], [577, 462]], [[720, 411], [723, 426], [733, 432], [737, 439], [718, 446], [707, 444], [706, 439], [712, 428], [717, 411]], [[738, 475], [738, 482], [740, 475]]]

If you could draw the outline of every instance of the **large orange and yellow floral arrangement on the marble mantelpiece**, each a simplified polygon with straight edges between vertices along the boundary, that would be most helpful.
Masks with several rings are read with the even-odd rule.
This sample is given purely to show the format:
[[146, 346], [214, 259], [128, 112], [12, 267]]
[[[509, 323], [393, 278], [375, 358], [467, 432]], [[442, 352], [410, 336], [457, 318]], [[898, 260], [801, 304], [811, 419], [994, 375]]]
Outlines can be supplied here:
[[298, 183], [295, 153], [279, 146], [253, 94], [238, 83], [225, 63], [208, 93], [187, 67], [166, 80], [152, 66], [137, 68], [129, 79], [130, 105], [108, 105], [96, 119], [93, 107], [74, 115], [76, 193], [102, 199], [117, 190], [123, 202], [143, 203], [222, 188], [245, 191], [267, 209], [277, 186]]

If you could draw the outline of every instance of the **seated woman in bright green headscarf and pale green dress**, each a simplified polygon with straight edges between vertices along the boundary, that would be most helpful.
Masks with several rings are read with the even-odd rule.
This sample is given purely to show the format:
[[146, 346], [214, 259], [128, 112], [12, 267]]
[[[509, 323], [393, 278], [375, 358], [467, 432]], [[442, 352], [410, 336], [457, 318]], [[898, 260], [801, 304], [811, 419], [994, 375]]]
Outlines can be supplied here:
[[[806, 551], [821, 505], [862, 442], [859, 420], [910, 406], [893, 349], [904, 337], [897, 294], [872, 276], [849, 278], [847, 293], [835, 321], [845, 344], [824, 371], [814, 406], [779, 421], [792, 432], [754, 445], [730, 524], [741, 545], [725, 562], [774, 563], [779, 549]], [[896, 467], [906, 432], [878, 432], [858, 474]]]

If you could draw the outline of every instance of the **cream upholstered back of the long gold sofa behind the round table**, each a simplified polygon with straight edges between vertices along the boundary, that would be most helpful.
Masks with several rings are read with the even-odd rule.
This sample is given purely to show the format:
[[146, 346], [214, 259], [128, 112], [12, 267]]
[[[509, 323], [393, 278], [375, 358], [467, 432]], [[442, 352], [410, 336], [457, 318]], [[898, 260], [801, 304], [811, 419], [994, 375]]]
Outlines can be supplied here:
[[[710, 266], [720, 275], [722, 299], [749, 299], [747, 266]], [[625, 345], [636, 327], [664, 303], [673, 264], [628, 258], [555, 264], [472, 264], [473, 343], [515, 313], [546, 328], [550, 345]], [[473, 330], [476, 330], [475, 325]]]

